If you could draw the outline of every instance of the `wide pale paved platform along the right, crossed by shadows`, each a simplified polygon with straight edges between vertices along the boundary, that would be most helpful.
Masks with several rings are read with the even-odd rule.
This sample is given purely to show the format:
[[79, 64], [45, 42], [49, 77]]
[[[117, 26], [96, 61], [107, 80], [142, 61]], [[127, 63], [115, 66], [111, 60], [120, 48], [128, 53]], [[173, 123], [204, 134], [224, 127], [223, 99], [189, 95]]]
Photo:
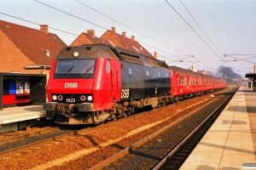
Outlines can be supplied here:
[[255, 150], [256, 92], [241, 87], [180, 169], [256, 169]]

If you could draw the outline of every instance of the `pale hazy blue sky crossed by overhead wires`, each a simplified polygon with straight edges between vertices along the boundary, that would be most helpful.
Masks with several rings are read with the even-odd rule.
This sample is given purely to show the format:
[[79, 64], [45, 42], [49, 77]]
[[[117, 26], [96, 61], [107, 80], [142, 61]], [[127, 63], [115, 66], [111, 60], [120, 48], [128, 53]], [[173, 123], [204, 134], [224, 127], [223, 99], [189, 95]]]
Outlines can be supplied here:
[[253, 0], [2, 0], [0, 20], [47, 25], [67, 45], [87, 30], [101, 37], [115, 27], [168, 65], [224, 65], [244, 77], [256, 65], [255, 7]]

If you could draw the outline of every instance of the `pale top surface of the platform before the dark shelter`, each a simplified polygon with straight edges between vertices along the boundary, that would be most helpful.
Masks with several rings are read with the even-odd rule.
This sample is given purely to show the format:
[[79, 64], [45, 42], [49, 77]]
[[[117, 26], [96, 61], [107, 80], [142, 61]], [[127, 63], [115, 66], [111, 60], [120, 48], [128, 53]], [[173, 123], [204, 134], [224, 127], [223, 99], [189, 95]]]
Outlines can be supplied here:
[[3, 108], [3, 110], [0, 111], [0, 124], [27, 121], [45, 116], [46, 111], [43, 111], [43, 105], [27, 105]]

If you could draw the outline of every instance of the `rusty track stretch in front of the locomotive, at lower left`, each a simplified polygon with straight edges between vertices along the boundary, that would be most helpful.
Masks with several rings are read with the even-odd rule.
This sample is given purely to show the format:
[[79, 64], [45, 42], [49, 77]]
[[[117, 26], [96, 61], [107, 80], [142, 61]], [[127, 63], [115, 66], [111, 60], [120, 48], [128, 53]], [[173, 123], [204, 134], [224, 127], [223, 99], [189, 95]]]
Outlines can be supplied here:
[[13, 155], [26, 154], [32, 150], [38, 150], [67, 141], [68, 139], [73, 139], [74, 136], [80, 133], [86, 133], [91, 128], [88, 126], [84, 128], [84, 126], [68, 127], [67, 125], [63, 125], [60, 127], [49, 127], [48, 129], [44, 129], [44, 132], [38, 131], [2, 139], [0, 140], [0, 159], [9, 159]]

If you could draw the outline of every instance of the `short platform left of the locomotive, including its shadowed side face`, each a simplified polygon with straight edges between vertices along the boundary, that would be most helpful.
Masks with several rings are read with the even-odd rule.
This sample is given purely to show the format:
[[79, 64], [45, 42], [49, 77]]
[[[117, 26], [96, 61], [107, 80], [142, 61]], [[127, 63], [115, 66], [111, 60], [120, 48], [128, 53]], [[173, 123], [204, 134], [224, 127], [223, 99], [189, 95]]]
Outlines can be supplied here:
[[46, 117], [43, 105], [26, 105], [3, 108], [0, 111], [0, 133], [18, 131], [44, 122], [38, 122]]

